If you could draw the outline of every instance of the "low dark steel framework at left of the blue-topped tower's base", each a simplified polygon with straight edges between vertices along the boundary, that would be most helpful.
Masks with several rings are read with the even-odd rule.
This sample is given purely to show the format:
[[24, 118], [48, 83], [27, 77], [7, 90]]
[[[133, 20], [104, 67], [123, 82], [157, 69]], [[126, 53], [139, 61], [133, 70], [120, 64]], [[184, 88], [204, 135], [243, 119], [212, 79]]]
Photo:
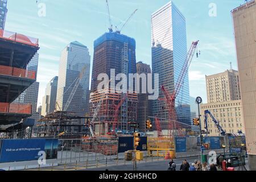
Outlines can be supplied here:
[[40, 119], [38, 137], [56, 137], [63, 133], [61, 138], [82, 138], [90, 136], [90, 117], [81, 117], [74, 112], [55, 111]]

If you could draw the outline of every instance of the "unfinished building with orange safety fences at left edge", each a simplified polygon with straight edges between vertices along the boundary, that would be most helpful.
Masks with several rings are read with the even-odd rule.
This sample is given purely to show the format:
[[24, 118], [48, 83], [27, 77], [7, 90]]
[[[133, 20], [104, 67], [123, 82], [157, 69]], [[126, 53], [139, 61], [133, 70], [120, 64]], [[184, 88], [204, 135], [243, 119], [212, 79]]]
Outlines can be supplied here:
[[33, 103], [13, 101], [36, 81], [36, 72], [27, 65], [38, 56], [38, 39], [5, 32], [0, 35], [0, 130], [9, 138], [24, 138], [23, 123], [31, 117]]

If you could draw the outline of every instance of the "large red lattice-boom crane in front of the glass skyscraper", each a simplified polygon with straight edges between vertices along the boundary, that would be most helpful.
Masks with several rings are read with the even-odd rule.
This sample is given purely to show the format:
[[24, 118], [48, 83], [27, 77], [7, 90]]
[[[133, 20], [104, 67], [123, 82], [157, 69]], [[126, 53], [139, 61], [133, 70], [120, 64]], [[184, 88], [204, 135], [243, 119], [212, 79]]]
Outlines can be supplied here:
[[[172, 134], [171, 134], [172, 136], [177, 134], [176, 133], [177, 128], [181, 129], [180, 125], [178, 125], [176, 127], [176, 122], [174, 122], [174, 121], [177, 121], [177, 113], [176, 113], [176, 110], [175, 110], [175, 99], [179, 95], [180, 89], [183, 86], [185, 76], [187, 75], [189, 65], [191, 64], [191, 61], [192, 61], [193, 56], [195, 54], [196, 47], [197, 47], [198, 43], [199, 43], [199, 40], [197, 40], [196, 42], [192, 42], [192, 45], [189, 48], [187, 57], [184, 61], [183, 67], [181, 69], [180, 75], [177, 79], [176, 85], [175, 85], [174, 90], [172, 91], [172, 93], [170, 93], [167, 90], [167, 88], [164, 87], [164, 85], [161, 86], [161, 90], [164, 93], [164, 100], [166, 101], [166, 104], [167, 104], [168, 110], [169, 110], [168, 115], [169, 115], [169, 119], [171, 121], [169, 122], [168, 129], [170, 131], [173, 131]], [[180, 132], [180, 130], [179, 130], [179, 134], [184, 135], [183, 133]]]

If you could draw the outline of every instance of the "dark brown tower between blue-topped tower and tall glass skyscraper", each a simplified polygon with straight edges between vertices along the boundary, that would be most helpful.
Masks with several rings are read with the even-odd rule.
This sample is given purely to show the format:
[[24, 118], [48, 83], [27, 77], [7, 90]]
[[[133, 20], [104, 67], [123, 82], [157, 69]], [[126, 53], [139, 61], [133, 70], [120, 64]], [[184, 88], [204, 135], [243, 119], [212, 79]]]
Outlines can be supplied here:
[[[142, 61], [137, 63], [137, 73], [142, 74], [145, 73], [151, 73], [150, 65], [142, 63]], [[139, 130], [142, 132], [146, 132], [146, 121], [148, 117], [151, 115], [151, 100], [148, 100], [148, 94], [142, 93], [142, 87], [147, 88], [147, 82], [142, 82], [140, 80], [141, 88], [139, 88], [138, 93], [138, 123], [139, 123]]]

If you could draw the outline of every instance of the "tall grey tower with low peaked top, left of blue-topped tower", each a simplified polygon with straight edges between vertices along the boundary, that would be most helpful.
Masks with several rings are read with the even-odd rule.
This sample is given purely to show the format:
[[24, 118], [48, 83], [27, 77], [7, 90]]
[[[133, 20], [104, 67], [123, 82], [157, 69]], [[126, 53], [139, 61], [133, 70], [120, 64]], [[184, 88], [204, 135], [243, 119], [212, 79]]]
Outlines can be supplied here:
[[76, 41], [68, 44], [60, 57], [56, 100], [61, 110], [64, 110], [80, 73], [82, 74], [81, 82], [67, 111], [73, 111], [84, 116], [89, 113], [89, 98], [86, 96], [89, 92], [90, 55], [88, 48]]

